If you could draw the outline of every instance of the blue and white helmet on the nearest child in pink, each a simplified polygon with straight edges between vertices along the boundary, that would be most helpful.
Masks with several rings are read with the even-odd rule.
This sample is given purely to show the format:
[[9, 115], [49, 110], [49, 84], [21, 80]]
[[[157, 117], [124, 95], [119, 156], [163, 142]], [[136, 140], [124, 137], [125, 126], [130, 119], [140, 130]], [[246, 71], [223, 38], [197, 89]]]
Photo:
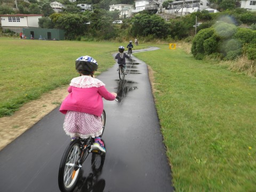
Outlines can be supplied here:
[[76, 70], [78, 72], [82, 70], [95, 71], [97, 69], [98, 69], [97, 61], [88, 55], [81, 56], [76, 59]]

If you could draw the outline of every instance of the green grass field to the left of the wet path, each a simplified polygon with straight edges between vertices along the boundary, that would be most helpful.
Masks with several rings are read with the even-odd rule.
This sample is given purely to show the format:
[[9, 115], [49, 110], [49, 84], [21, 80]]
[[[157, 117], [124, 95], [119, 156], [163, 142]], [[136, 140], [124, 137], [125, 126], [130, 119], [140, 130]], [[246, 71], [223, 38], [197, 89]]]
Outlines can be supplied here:
[[107, 70], [115, 63], [110, 53], [117, 52], [119, 45], [0, 38], [0, 117], [12, 115], [44, 92], [67, 85], [77, 76], [75, 60], [82, 55], [98, 61], [96, 75]]

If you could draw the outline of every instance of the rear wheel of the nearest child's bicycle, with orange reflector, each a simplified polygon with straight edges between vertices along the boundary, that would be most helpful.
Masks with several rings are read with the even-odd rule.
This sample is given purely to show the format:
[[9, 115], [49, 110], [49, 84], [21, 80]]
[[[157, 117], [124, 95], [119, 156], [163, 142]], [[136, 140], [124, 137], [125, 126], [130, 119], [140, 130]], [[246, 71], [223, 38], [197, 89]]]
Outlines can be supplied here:
[[81, 167], [75, 171], [75, 166], [78, 166], [81, 145], [81, 141], [74, 140], [70, 142], [63, 153], [58, 175], [59, 188], [62, 192], [71, 192], [76, 187]]

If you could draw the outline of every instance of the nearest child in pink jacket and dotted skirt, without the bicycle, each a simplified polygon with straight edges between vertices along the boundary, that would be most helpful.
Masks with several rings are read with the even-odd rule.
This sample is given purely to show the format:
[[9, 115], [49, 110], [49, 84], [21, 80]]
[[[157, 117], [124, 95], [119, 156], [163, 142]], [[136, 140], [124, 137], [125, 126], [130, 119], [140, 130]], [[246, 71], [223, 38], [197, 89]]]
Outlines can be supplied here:
[[79, 57], [75, 63], [80, 76], [71, 80], [68, 87], [69, 94], [60, 106], [60, 112], [66, 114], [63, 129], [73, 139], [95, 138], [92, 150], [106, 153], [100, 138], [103, 130], [102, 97], [112, 101], [117, 94], [108, 92], [104, 83], [93, 78], [94, 71], [98, 69], [98, 63], [92, 57], [87, 55]]

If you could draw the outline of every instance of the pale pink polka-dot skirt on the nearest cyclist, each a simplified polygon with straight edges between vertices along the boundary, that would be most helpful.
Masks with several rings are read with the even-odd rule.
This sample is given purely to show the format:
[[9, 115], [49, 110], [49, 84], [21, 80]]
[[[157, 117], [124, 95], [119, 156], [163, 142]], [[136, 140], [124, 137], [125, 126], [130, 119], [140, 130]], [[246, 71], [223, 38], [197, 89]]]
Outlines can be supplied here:
[[63, 123], [63, 129], [70, 137], [83, 139], [98, 137], [103, 126], [101, 117], [77, 111], [68, 111]]

